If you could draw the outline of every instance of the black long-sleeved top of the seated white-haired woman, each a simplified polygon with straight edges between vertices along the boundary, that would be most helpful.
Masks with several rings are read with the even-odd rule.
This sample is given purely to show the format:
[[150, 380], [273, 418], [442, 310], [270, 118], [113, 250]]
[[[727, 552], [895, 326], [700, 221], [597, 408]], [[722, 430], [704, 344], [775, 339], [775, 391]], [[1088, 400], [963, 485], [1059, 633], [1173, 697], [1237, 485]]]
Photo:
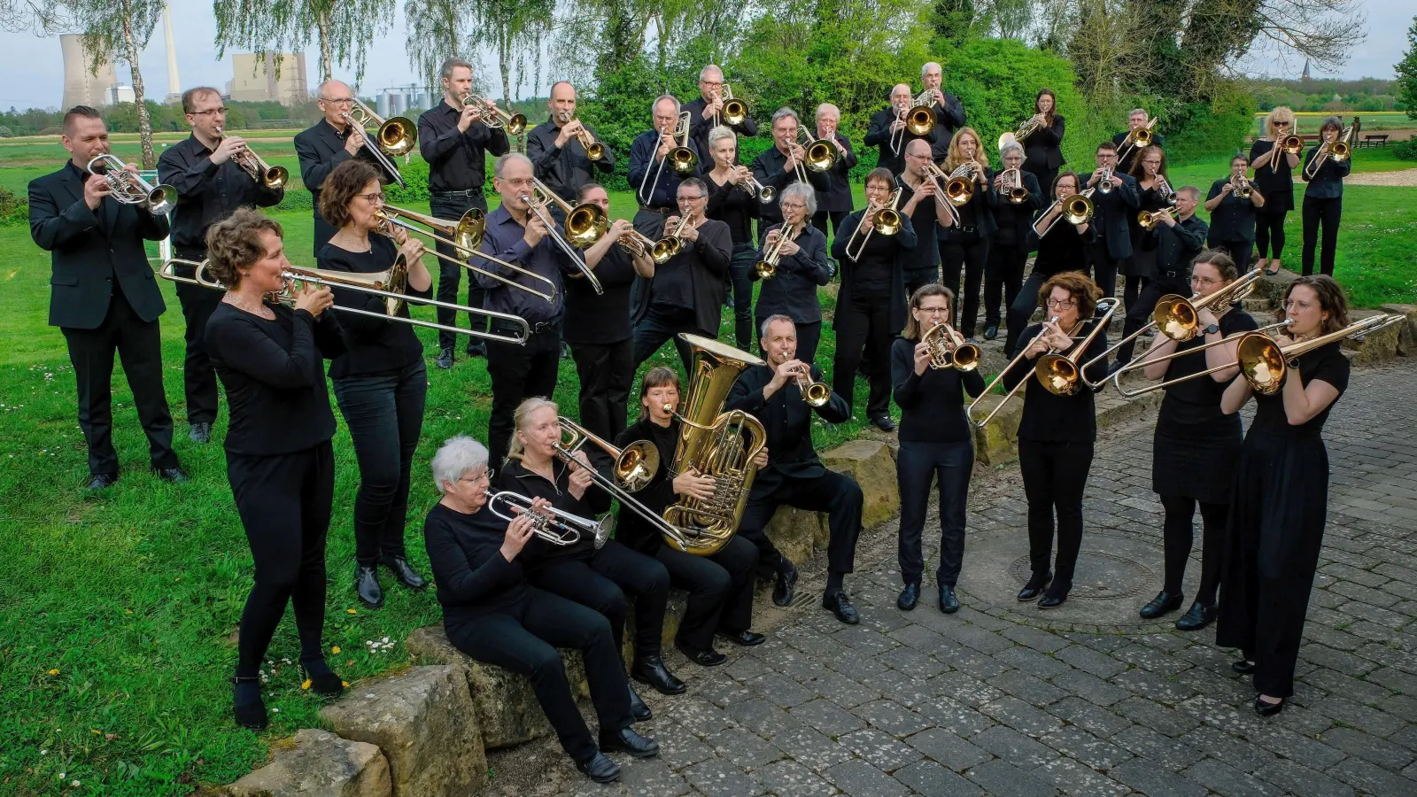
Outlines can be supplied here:
[[512, 562], [502, 556], [507, 523], [486, 506], [472, 515], [442, 503], [428, 511], [424, 547], [438, 586], [435, 593], [442, 604], [445, 627], [453, 628], [483, 614], [506, 611], [531, 594], [521, 573], [526, 547]]

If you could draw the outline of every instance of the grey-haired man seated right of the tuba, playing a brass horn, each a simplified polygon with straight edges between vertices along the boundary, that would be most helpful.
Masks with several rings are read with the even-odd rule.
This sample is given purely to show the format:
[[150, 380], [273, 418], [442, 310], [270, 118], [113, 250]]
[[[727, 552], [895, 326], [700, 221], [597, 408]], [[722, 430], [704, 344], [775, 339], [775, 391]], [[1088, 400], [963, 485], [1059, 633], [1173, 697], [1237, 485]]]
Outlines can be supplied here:
[[846, 596], [843, 581], [854, 569], [856, 537], [862, 533], [862, 488], [822, 467], [812, 448], [812, 413], [829, 424], [839, 424], [852, 417], [852, 406], [836, 393], [820, 407], [806, 403], [798, 379], [822, 381], [822, 369], [796, 359], [796, 332], [791, 318], [777, 315], [762, 322], [762, 347], [767, 364], [743, 372], [726, 403], [730, 410], [757, 416], [768, 430], [768, 464], [758, 469], [752, 482], [738, 536], [758, 546], [760, 570], [777, 572], [772, 603], [788, 606], [796, 589], [796, 567], [768, 539], [768, 520], [784, 503], [826, 512], [832, 536], [826, 549], [822, 607], [832, 610], [842, 623], [854, 625], [860, 615]]

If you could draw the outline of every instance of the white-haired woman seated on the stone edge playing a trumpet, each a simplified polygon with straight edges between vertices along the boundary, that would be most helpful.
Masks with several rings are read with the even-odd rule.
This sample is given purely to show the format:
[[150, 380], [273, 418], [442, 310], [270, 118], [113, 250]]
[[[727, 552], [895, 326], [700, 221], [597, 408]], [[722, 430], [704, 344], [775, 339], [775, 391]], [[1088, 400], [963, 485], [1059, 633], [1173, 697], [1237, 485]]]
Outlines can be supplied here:
[[[534, 533], [533, 516], [520, 515], [509, 523], [486, 508], [487, 450], [472, 438], [455, 437], [434, 455], [432, 469], [442, 499], [424, 522], [424, 545], [448, 640], [476, 661], [529, 676], [561, 747], [591, 780], [619, 777], [619, 766], [605, 752], [639, 759], [659, 754], [653, 739], [631, 728], [625, 671], [605, 617], [527, 584], [519, 554]], [[548, 505], [534, 501], [538, 511]], [[598, 747], [575, 708], [555, 648], [574, 648], [585, 657], [601, 725]]]

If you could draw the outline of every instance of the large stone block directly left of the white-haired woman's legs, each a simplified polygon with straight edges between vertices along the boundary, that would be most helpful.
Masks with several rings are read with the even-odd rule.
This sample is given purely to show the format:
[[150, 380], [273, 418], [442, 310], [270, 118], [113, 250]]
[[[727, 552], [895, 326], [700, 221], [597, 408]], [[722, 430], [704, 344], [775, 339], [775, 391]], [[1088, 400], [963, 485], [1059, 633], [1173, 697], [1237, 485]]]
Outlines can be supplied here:
[[461, 797], [487, 786], [478, 716], [456, 665], [363, 682], [320, 719], [346, 739], [378, 745], [394, 797]]

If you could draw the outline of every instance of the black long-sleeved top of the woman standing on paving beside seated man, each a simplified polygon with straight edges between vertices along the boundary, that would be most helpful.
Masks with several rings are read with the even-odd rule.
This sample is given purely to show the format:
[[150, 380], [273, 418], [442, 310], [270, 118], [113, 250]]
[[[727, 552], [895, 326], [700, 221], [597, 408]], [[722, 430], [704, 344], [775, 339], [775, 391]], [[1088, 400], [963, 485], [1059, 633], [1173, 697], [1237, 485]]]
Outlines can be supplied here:
[[973, 425], [965, 416], [965, 389], [983, 393], [979, 370], [925, 367], [915, 373], [918, 340], [897, 338], [890, 346], [890, 381], [900, 406], [901, 442], [969, 442]]

